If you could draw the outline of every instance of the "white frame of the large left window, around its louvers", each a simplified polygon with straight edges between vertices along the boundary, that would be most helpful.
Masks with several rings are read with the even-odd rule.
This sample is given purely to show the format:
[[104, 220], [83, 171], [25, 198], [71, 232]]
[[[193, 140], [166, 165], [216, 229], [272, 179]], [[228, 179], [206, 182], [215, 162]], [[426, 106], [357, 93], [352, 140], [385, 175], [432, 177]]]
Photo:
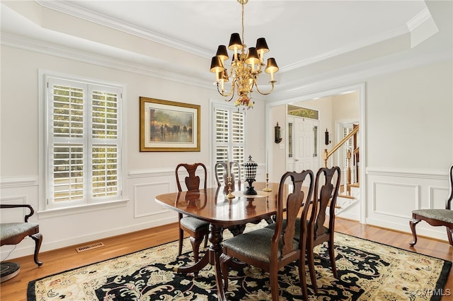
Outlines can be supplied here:
[[[50, 81], [59, 81], [62, 83], [74, 83], [74, 85], [82, 85], [86, 87], [84, 91], [84, 131], [86, 134], [83, 141], [83, 148], [84, 148], [84, 166], [89, 166], [89, 169], [84, 171], [84, 177], [88, 178], [88, 182], [86, 182], [86, 187], [84, 187], [84, 198], [83, 200], [78, 201], [63, 201], [62, 203], [57, 203], [53, 199], [52, 189], [53, 187], [51, 179], [51, 173], [53, 173], [53, 162], [52, 162], [52, 147], [51, 143], [54, 141], [54, 136], [52, 132], [52, 122], [53, 122], [53, 113], [50, 111], [52, 110], [53, 106], [53, 98], [52, 95], [52, 87], [49, 85]], [[125, 153], [126, 147], [122, 141], [126, 141], [125, 136], [125, 85], [120, 83], [111, 83], [100, 81], [96, 79], [90, 78], [81, 78], [77, 76], [71, 76], [62, 73], [56, 73], [53, 71], [39, 71], [39, 89], [40, 89], [40, 179], [42, 179], [39, 185], [40, 189], [40, 206], [39, 211], [42, 212], [50, 212], [50, 211], [59, 211], [65, 210], [70, 208], [82, 208], [81, 210], [85, 210], [83, 208], [86, 207], [93, 207], [93, 206], [102, 206], [103, 204], [107, 203], [117, 203], [121, 201], [127, 201], [125, 199]], [[115, 138], [114, 143], [111, 144], [117, 148], [116, 152], [116, 177], [117, 177], [117, 193], [113, 196], [102, 196], [100, 198], [93, 198], [91, 195], [92, 193], [92, 183], [93, 183], [93, 176], [91, 174], [91, 166], [93, 165], [93, 147], [98, 145], [98, 138], [94, 138], [93, 136], [93, 116], [91, 115], [93, 112], [93, 88], [94, 90], [100, 90], [99, 88], [104, 88], [102, 91], [105, 92], [115, 92], [117, 95], [117, 117], [116, 117], [116, 125], [117, 125], [117, 137]], [[97, 88], [97, 89], [96, 89]], [[52, 103], [51, 103], [52, 102]], [[90, 140], [92, 143], [87, 144], [87, 136], [90, 136]], [[109, 143], [105, 143], [108, 139], [101, 139], [103, 140], [104, 147], [108, 147]], [[90, 149], [91, 148], [91, 149]], [[90, 189], [88, 191], [88, 189]], [[88, 192], [88, 194], [87, 194]], [[39, 213], [38, 211], [38, 213]]]

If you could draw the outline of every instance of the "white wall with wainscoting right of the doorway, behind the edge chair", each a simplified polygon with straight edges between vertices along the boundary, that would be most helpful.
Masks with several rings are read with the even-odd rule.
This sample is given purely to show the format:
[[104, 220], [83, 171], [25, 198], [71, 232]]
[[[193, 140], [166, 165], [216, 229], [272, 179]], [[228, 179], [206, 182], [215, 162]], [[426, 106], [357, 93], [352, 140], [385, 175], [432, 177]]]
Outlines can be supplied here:
[[[367, 223], [408, 232], [411, 211], [445, 208], [453, 163], [452, 61], [367, 81]], [[426, 223], [422, 235], [446, 240]]]

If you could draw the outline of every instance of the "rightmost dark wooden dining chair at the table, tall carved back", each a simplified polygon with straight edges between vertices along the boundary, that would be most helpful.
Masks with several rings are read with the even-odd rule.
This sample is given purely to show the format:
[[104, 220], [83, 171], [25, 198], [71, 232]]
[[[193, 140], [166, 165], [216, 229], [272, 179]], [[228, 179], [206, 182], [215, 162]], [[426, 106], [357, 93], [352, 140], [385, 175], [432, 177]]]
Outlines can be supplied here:
[[[314, 198], [308, 222], [306, 257], [309, 265], [311, 285], [315, 293], [318, 292], [318, 286], [316, 285], [316, 271], [314, 268], [314, 247], [318, 244], [323, 242], [328, 243], [328, 254], [333, 276], [338, 278], [333, 236], [335, 233], [335, 207], [340, 189], [340, 179], [340, 167], [334, 166], [331, 168], [321, 167], [316, 172], [314, 180]], [[327, 218], [328, 220], [326, 220]]]

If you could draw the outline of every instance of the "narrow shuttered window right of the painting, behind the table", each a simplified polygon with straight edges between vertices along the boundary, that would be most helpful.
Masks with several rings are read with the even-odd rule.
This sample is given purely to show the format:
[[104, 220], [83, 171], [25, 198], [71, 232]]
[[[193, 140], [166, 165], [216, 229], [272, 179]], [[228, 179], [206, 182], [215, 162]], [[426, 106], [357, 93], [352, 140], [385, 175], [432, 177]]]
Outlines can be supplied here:
[[[245, 153], [245, 114], [238, 112], [236, 107], [214, 105], [214, 124], [214, 164], [232, 160], [238, 162], [242, 169]], [[223, 179], [222, 172], [220, 178]]]

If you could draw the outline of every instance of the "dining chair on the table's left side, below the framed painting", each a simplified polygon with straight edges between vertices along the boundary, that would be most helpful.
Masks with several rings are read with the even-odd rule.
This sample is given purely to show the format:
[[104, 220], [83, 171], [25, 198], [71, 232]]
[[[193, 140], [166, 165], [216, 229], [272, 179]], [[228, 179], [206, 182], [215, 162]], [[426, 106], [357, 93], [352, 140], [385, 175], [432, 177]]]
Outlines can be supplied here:
[[[188, 177], [184, 178], [185, 187], [188, 191], [200, 189], [200, 177], [196, 175], [198, 170], [204, 172], [205, 177], [203, 178], [202, 188], [206, 189], [207, 183], [207, 169], [203, 163], [180, 163], [176, 167], [176, 184], [178, 185], [178, 191], [183, 191], [181, 186], [179, 173], [180, 170], [185, 170], [188, 174]], [[198, 261], [198, 253], [200, 252], [200, 244], [205, 238], [205, 247], [207, 247], [207, 235], [209, 234], [210, 223], [199, 220], [198, 218], [193, 218], [191, 216], [183, 216], [182, 213], [178, 213], [178, 223], [179, 223], [179, 245], [178, 245], [178, 255], [183, 252], [183, 239], [184, 232], [187, 232], [190, 235], [190, 244], [192, 244], [193, 249], [193, 259], [195, 262]]]

